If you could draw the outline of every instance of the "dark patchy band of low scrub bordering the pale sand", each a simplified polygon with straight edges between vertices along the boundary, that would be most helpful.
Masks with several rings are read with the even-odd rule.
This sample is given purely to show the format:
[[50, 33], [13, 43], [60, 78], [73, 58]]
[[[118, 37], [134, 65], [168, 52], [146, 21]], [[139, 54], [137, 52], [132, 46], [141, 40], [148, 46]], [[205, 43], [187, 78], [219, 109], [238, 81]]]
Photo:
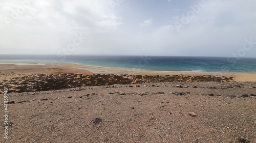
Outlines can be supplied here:
[[[1, 78], [2, 77], [2, 78]], [[4, 77], [8, 77], [5, 79]], [[33, 92], [61, 90], [68, 88], [113, 85], [113, 84], [133, 84], [152, 82], [190, 82], [190, 81], [233, 81], [232, 77], [219, 77], [211, 75], [202, 76], [142, 76], [142, 75], [114, 75], [114, 74], [3, 74], [0, 75], [0, 89], [8, 88], [10, 92]]]

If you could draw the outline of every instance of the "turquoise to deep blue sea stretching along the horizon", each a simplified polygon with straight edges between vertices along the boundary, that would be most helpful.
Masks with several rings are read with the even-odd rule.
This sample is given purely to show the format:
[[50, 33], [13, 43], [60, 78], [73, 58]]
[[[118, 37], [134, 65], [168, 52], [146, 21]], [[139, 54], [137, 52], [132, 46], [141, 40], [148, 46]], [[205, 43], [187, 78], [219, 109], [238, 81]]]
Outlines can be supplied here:
[[76, 63], [148, 71], [256, 73], [256, 58], [124, 55], [0, 55], [1, 62]]

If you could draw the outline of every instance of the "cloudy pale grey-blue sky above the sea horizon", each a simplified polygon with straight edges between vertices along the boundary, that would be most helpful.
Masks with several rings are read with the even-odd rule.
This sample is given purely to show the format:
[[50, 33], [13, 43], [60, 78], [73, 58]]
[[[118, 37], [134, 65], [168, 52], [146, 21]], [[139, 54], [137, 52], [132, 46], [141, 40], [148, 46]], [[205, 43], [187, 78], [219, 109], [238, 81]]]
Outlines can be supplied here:
[[255, 0], [2, 0], [0, 54], [256, 58]]

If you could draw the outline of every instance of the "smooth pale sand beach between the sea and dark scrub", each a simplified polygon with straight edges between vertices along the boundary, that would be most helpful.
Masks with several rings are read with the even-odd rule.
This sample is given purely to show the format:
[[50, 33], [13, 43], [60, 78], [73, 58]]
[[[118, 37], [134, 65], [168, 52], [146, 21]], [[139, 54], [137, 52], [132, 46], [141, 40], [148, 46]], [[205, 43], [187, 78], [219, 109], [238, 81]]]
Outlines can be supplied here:
[[72, 63], [0, 63], [0, 74], [135, 74], [135, 75], [218, 75], [233, 77], [235, 81], [256, 81], [256, 73], [202, 73], [202, 72], [163, 72], [138, 69], [102, 68]]

